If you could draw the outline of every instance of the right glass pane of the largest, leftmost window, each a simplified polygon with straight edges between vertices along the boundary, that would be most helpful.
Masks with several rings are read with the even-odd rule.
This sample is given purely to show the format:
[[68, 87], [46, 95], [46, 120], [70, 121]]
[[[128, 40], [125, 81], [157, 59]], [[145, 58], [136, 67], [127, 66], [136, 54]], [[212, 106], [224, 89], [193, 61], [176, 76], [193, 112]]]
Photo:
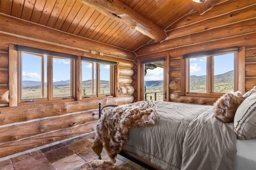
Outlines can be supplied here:
[[53, 57], [52, 62], [52, 97], [72, 96], [70, 88], [71, 59]]

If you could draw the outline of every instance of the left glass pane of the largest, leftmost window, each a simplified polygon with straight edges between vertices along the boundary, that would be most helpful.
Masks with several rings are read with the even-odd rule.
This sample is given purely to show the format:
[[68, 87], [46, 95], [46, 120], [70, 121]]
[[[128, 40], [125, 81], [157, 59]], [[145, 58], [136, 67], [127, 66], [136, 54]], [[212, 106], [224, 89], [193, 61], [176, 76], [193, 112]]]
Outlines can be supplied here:
[[42, 98], [42, 56], [21, 52], [21, 63], [20, 98], [22, 100]]

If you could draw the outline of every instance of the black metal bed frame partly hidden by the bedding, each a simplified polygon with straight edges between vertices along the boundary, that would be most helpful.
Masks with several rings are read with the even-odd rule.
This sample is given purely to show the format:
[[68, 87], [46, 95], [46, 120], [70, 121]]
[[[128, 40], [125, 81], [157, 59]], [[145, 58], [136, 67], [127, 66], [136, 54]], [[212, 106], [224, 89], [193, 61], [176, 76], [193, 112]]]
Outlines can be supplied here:
[[[99, 119], [100, 119], [100, 116], [101, 114], [103, 115], [102, 113], [102, 110], [106, 107], [117, 107], [118, 105], [114, 105], [114, 104], [111, 104], [111, 105], [106, 105], [104, 107], [101, 107], [101, 103], [99, 103]], [[136, 164], [139, 164], [140, 166], [143, 166], [144, 168], [147, 168], [148, 170], [156, 170], [156, 169], [159, 169], [158, 167], [154, 166], [153, 164], [149, 165], [150, 163], [148, 162], [148, 164], [146, 163], [147, 161], [146, 160], [143, 160], [142, 158], [140, 158], [141, 160], [138, 160], [138, 158], [135, 158], [134, 156], [132, 156], [133, 154], [132, 153], [128, 153], [127, 151], [121, 151], [119, 153], [121, 156], [124, 156], [125, 158], [131, 160], [132, 162], [135, 162]], [[101, 159], [101, 155], [99, 156], [99, 159]]]

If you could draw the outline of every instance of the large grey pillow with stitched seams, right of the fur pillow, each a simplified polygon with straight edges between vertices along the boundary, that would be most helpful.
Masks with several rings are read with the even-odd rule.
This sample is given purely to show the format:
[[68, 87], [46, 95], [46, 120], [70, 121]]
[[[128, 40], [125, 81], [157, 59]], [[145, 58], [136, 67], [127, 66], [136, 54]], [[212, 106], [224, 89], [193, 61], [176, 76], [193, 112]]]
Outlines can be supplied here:
[[236, 110], [234, 131], [237, 139], [256, 138], [256, 93], [248, 96]]

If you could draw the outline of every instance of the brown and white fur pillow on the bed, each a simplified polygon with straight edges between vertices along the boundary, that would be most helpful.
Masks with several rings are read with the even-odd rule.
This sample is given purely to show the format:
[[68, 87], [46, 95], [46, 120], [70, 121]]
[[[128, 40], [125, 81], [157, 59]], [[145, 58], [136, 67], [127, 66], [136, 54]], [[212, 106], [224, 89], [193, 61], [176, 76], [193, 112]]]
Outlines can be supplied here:
[[215, 117], [223, 123], [234, 121], [236, 109], [243, 101], [240, 91], [224, 94], [213, 105]]

